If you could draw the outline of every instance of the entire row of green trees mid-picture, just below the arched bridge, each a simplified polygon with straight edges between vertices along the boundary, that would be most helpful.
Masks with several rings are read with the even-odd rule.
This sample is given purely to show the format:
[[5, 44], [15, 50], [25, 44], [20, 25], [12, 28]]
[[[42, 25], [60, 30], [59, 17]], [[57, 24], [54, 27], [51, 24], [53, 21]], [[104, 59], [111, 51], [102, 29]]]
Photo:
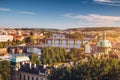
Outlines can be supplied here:
[[79, 60], [82, 52], [77, 48], [71, 48], [70, 51], [66, 52], [66, 49], [60, 47], [45, 47], [42, 49], [41, 53], [41, 63], [51, 64], [56, 62]]

